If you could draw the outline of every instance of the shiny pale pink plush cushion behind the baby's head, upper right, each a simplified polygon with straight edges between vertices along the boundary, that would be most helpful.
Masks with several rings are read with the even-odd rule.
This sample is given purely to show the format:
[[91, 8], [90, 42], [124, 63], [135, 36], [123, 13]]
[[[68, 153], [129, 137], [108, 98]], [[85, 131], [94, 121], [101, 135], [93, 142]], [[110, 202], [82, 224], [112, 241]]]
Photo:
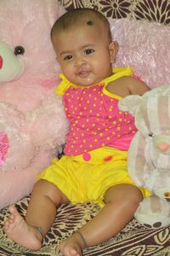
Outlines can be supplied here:
[[170, 29], [147, 20], [110, 20], [116, 67], [131, 66], [151, 89], [170, 82]]

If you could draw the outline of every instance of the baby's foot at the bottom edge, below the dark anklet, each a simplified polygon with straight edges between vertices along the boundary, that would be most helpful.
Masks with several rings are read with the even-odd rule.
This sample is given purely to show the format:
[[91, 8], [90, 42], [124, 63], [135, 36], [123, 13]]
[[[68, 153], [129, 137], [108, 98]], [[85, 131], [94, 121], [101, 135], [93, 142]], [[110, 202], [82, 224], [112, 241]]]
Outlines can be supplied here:
[[84, 242], [77, 232], [59, 244], [59, 250], [64, 256], [82, 256], [83, 247]]

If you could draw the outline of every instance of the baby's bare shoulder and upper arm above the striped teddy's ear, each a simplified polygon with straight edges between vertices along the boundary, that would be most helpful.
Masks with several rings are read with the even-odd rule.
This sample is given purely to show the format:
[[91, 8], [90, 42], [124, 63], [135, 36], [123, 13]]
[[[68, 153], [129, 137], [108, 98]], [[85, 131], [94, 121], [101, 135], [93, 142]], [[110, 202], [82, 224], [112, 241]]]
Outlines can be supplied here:
[[150, 88], [139, 79], [124, 76], [108, 84], [106, 90], [117, 96], [125, 97], [128, 95], [142, 96], [144, 92], [150, 90]]

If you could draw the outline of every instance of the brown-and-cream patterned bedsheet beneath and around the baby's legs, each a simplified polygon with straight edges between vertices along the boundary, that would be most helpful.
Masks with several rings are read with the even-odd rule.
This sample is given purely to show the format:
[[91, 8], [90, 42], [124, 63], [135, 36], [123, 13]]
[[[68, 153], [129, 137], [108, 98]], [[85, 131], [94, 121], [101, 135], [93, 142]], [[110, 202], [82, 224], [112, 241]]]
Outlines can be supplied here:
[[[29, 197], [21, 200], [16, 207], [25, 215]], [[7, 209], [0, 212], [0, 255], [61, 255], [59, 254], [59, 241], [71, 236], [82, 224], [99, 211], [93, 204], [79, 204], [77, 206], [64, 205], [59, 207], [59, 212], [54, 224], [44, 238], [41, 250], [32, 252], [10, 241], [2, 230], [3, 221], [8, 218]], [[170, 227], [164, 229], [146, 229], [134, 218], [117, 236], [105, 241], [98, 246], [88, 247], [83, 250], [86, 256], [168, 256], [170, 255]]]

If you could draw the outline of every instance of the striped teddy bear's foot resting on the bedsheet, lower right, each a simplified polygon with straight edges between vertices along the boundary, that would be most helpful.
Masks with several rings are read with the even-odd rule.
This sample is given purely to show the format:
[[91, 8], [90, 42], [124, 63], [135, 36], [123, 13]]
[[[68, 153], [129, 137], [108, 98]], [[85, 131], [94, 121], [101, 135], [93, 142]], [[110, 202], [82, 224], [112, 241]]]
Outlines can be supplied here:
[[156, 196], [145, 198], [134, 217], [148, 228], [161, 228], [170, 224], [170, 203]]

